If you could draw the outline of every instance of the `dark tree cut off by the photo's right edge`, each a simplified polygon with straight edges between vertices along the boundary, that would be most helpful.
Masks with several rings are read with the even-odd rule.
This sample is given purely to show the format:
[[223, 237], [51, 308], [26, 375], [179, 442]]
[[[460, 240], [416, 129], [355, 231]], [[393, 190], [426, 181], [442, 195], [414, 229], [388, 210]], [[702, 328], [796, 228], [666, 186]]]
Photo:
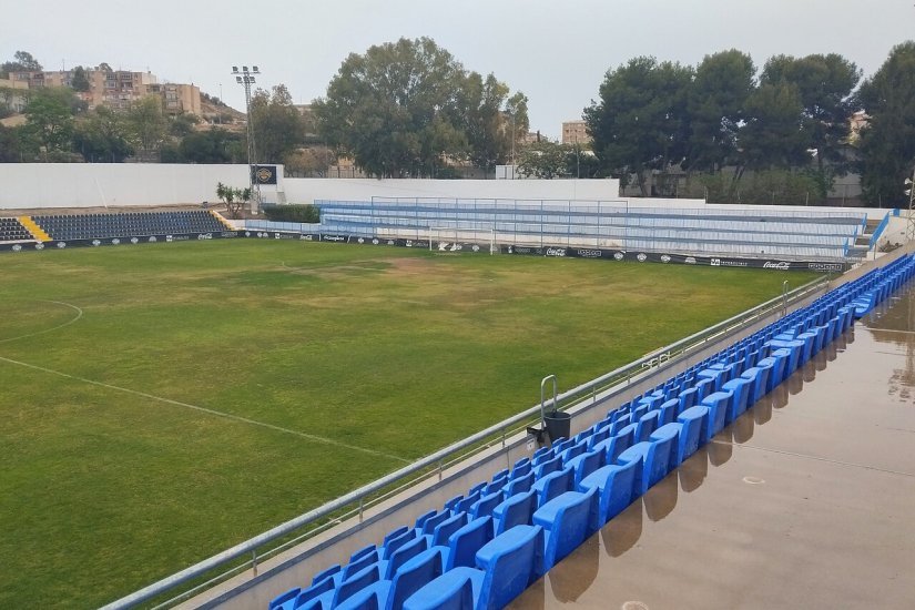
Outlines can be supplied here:
[[864, 196], [873, 206], [907, 207], [903, 182], [915, 167], [915, 41], [894, 47], [858, 95], [870, 115], [860, 142]]

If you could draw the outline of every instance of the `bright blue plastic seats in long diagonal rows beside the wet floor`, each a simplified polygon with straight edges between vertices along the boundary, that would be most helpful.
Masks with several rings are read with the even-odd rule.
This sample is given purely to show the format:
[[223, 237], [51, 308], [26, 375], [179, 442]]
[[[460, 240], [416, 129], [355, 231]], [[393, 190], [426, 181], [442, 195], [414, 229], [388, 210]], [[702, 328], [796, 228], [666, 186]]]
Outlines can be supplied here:
[[557, 439], [270, 602], [268, 610], [499, 610], [915, 273], [831, 291]]

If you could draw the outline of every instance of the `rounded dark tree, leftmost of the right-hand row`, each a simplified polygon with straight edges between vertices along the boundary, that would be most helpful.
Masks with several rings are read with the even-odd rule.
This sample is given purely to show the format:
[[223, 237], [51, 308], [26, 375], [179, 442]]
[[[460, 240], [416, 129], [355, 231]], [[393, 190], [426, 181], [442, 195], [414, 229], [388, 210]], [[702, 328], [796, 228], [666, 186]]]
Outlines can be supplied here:
[[601, 166], [612, 175], [634, 173], [642, 196], [649, 196], [651, 170], [679, 165], [685, 156], [692, 75], [680, 63], [636, 58], [607, 73], [600, 101], [584, 110]]

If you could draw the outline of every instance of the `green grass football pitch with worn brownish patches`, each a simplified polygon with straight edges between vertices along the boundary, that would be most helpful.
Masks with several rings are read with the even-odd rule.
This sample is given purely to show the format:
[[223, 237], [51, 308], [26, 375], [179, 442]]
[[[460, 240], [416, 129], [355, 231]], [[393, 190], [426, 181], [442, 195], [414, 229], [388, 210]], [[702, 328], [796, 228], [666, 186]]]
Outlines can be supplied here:
[[64, 610], [811, 279], [254, 240], [0, 274], [0, 608]]

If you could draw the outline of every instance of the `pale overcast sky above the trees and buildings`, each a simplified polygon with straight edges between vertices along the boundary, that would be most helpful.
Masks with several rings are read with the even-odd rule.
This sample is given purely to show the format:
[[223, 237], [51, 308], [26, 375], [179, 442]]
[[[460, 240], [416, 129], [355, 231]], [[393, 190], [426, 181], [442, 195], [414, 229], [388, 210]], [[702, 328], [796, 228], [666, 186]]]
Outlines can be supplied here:
[[[558, 136], [604, 72], [651, 54], [694, 64], [736, 48], [758, 68], [775, 53], [837, 52], [873, 73], [915, 38], [915, 0], [31, 0], [0, 21], [0, 57], [151, 70], [243, 109], [233, 64], [284, 83], [296, 103], [323, 95], [349, 52], [428, 35], [466, 68], [530, 99], [531, 129]], [[9, 16], [8, 16], [9, 17]]]

